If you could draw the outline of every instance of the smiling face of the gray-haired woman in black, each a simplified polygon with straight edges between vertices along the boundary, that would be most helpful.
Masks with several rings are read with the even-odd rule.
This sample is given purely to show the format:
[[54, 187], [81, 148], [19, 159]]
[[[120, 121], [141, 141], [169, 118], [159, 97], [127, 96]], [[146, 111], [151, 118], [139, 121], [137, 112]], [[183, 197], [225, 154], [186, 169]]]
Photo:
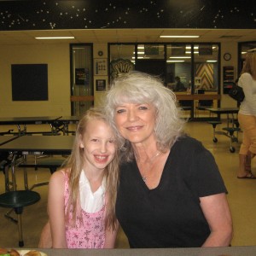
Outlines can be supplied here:
[[147, 143], [155, 137], [155, 108], [152, 104], [124, 103], [115, 109], [115, 123], [131, 143]]

